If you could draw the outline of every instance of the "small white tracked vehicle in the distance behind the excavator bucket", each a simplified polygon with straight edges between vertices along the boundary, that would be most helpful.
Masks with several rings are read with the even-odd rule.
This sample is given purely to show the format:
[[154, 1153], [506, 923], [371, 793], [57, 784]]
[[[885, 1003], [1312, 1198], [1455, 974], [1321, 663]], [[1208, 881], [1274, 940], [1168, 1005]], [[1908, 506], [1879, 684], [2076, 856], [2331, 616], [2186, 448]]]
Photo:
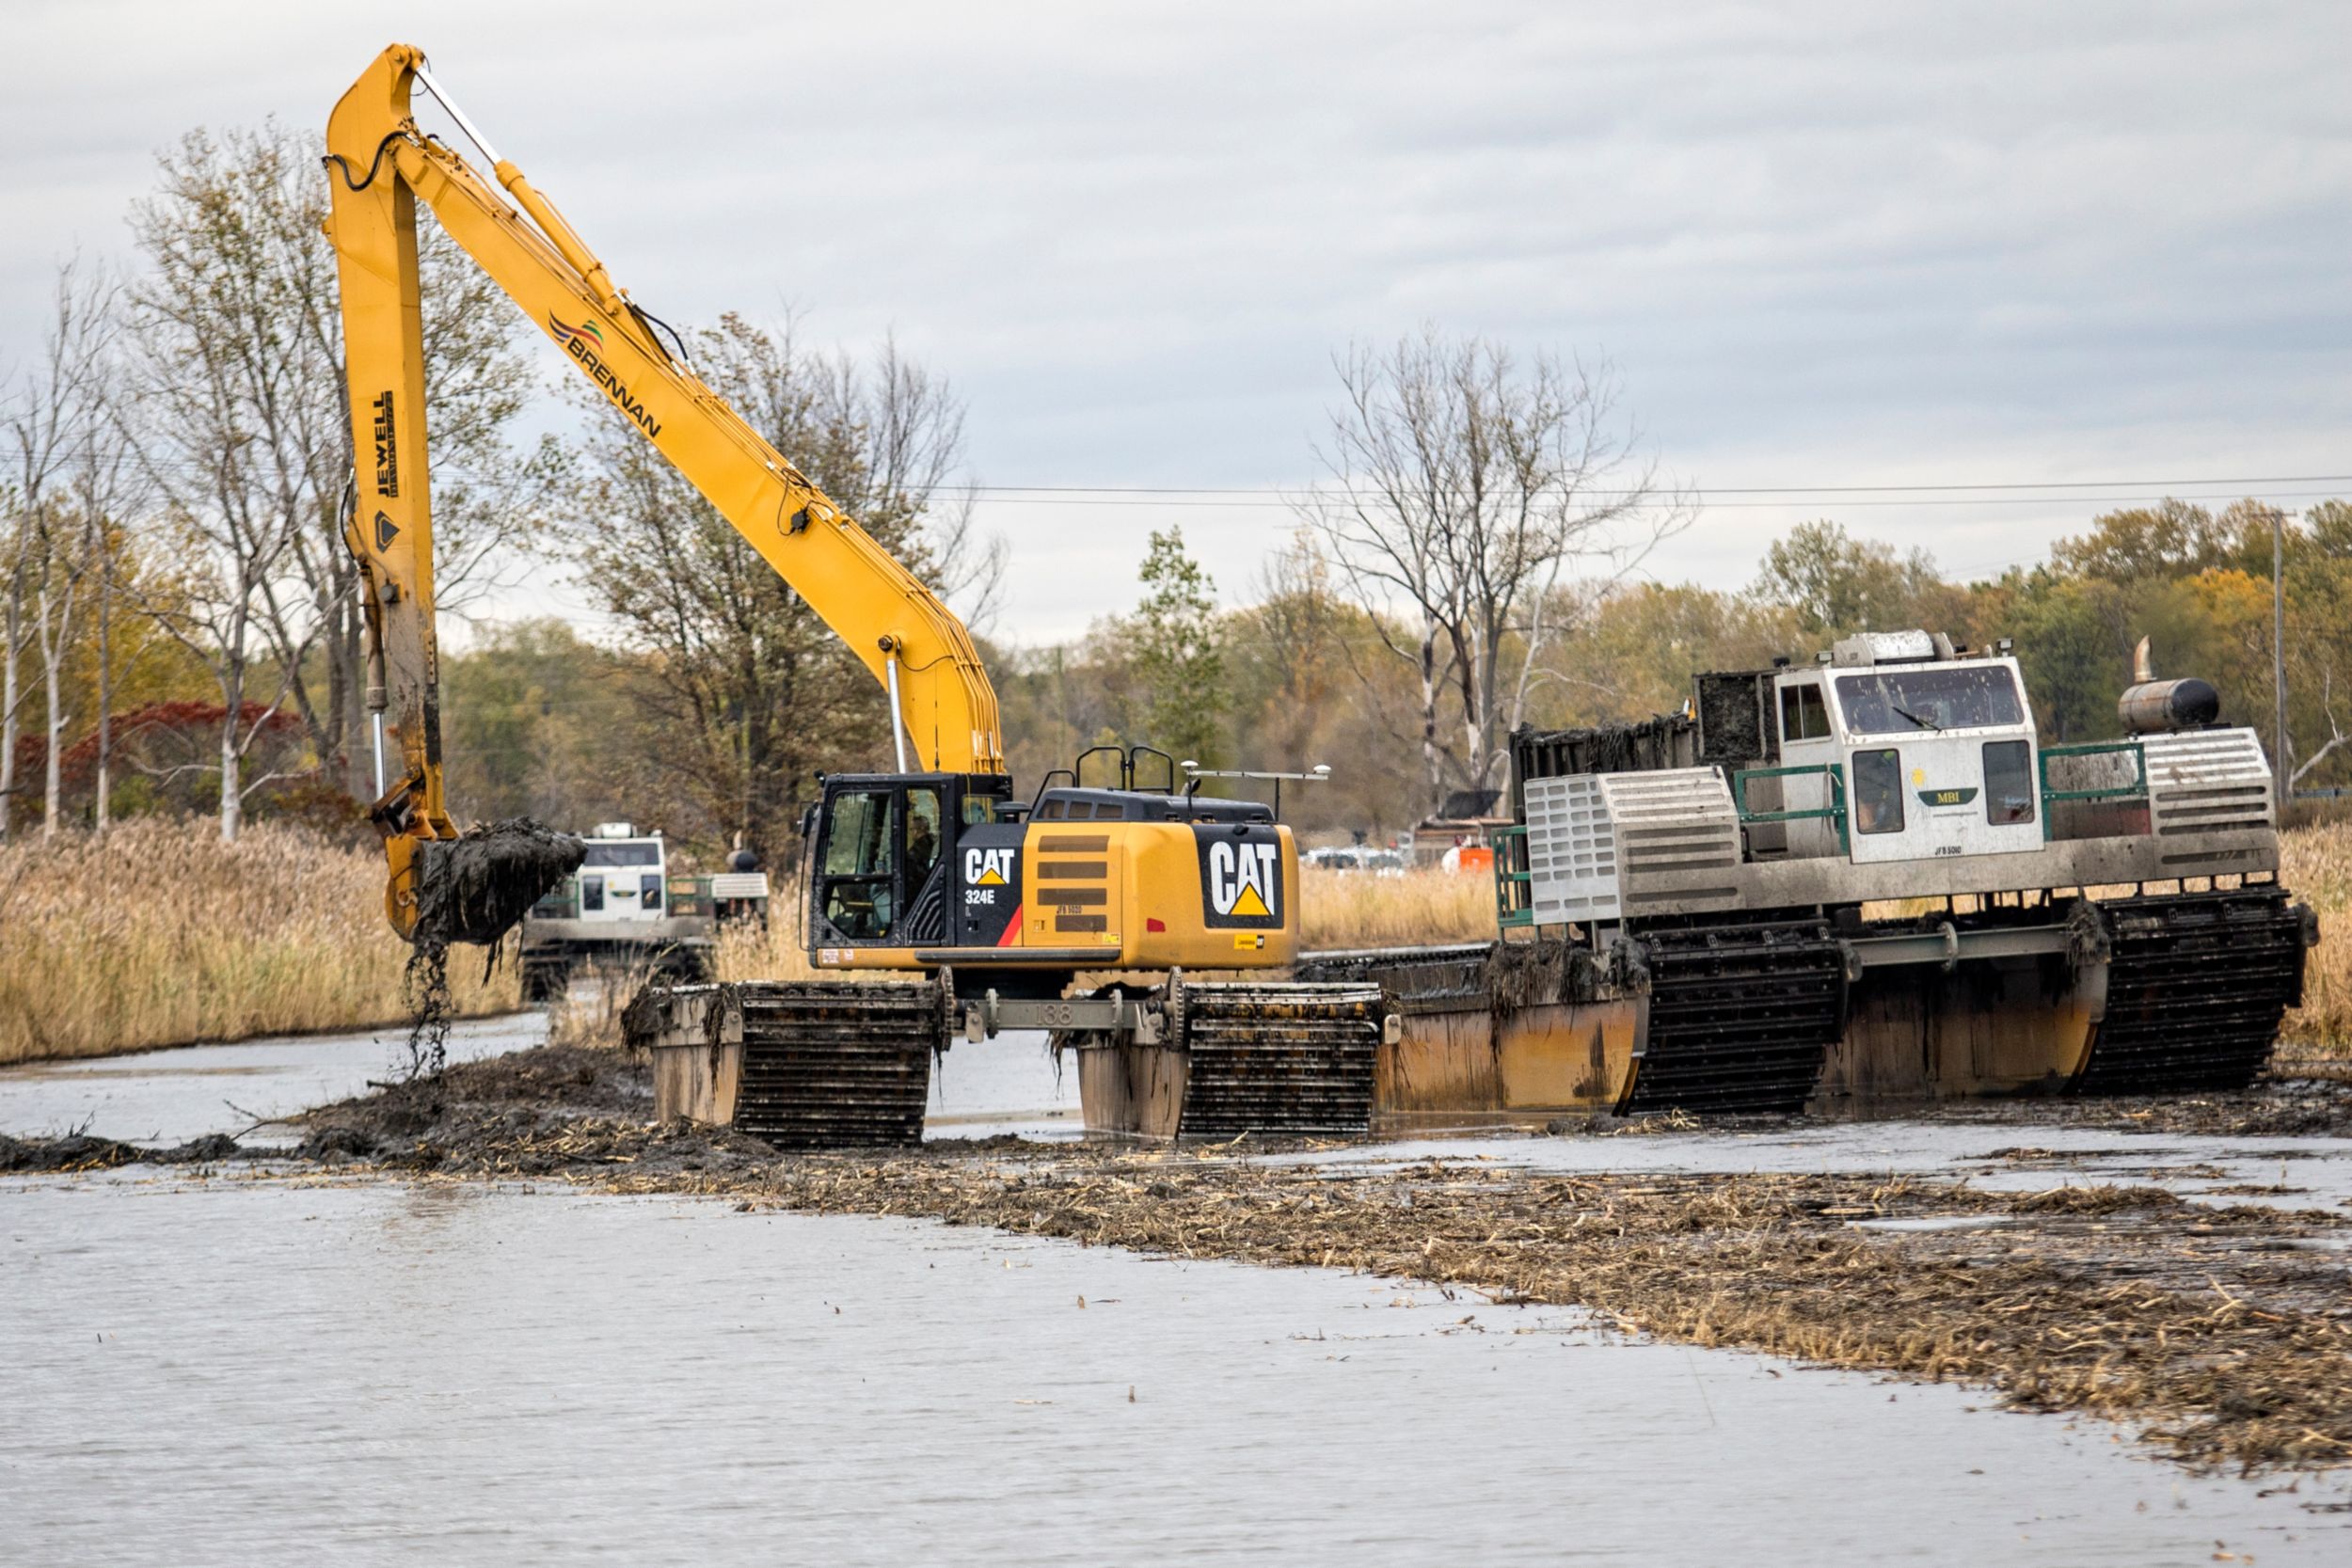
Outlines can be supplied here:
[[708, 980], [720, 926], [767, 926], [767, 872], [748, 851], [710, 877], [670, 872], [668, 842], [635, 823], [597, 823], [588, 858], [522, 919], [522, 994], [560, 997], [588, 966]]

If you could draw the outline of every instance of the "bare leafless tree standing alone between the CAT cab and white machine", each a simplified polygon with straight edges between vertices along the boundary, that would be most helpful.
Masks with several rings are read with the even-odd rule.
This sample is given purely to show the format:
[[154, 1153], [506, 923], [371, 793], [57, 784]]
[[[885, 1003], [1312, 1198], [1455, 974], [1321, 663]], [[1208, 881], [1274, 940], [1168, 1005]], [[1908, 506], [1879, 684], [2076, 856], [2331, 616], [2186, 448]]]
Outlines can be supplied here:
[[1414, 668], [1435, 809], [1449, 783], [1501, 785], [1569, 562], [1621, 574], [1686, 510], [1621, 428], [1609, 367], [1538, 353], [1522, 371], [1498, 343], [1423, 329], [1352, 346], [1338, 376], [1331, 484], [1294, 505]]

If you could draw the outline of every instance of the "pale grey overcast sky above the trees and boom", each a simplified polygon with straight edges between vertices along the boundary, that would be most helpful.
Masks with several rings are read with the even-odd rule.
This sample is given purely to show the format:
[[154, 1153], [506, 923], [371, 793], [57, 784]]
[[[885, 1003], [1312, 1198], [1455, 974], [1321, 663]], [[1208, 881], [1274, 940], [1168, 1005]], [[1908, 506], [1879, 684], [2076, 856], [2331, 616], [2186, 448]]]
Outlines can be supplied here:
[[[1112, 487], [990, 494], [1018, 642], [1127, 604], [1169, 522], [1244, 592], [1334, 350], [1425, 322], [1618, 367], [1705, 498], [1663, 578], [1816, 515], [1990, 574], [2124, 498], [2352, 491], [2324, 0], [390, 14], [656, 313], [896, 331], [976, 480]], [[322, 125], [383, 16], [9, 0], [0, 355], [64, 254], [127, 249], [155, 148]]]

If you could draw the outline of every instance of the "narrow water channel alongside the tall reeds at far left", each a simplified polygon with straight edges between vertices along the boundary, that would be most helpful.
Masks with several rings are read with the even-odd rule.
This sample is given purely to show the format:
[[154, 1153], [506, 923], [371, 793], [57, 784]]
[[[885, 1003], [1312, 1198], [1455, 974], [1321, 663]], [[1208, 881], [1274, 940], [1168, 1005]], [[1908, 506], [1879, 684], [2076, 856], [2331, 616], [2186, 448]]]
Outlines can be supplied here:
[[[449, 1060], [524, 1051], [546, 1037], [546, 1013], [466, 1018], [449, 1025]], [[367, 1093], [369, 1079], [388, 1079], [405, 1063], [407, 1030], [386, 1027], [0, 1067], [0, 1133], [87, 1128], [148, 1145], [238, 1133], [247, 1143], [292, 1143], [292, 1128], [270, 1124], [275, 1117]], [[247, 1133], [256, 1121], [263, 1126]]]

